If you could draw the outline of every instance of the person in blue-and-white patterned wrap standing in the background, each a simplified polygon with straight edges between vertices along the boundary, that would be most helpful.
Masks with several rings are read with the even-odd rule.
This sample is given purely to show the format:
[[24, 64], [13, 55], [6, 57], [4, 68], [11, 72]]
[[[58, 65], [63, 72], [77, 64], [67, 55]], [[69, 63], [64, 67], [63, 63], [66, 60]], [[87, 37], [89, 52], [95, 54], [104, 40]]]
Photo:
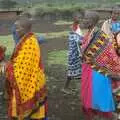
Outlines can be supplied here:
[[72, 30], [68, 38], [68, 72], [67, 81], [63, 91], [67, 91], [70, 81], [74, 78], [80, 78], [81, 75], [81, 40], [83, 38], [80, 30], [79, 20], [75, 17]]

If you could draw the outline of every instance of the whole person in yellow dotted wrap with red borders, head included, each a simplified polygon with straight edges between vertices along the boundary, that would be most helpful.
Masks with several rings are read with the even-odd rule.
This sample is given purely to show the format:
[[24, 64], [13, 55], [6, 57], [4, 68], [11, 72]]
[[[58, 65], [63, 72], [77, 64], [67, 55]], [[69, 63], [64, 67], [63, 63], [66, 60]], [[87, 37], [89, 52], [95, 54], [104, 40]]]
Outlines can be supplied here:
[[47, 113], [47, 90], [41, 64], [40, 46], [31, 32], [31, 21], [16, 21], [20, 38], [6, 65], [8, 115], [14, 120], [44, 120]]

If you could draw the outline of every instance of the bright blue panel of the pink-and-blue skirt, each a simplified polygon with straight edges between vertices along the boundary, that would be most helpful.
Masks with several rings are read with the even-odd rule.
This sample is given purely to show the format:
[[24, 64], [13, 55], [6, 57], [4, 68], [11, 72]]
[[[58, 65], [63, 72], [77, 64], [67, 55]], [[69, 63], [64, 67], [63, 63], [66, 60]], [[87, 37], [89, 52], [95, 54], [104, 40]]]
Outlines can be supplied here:
[[101, 112], [112, 112], [115, 110], [115, 103], [112, 96], [111, 79], [96, 71], [92, 72], [92, 105]]

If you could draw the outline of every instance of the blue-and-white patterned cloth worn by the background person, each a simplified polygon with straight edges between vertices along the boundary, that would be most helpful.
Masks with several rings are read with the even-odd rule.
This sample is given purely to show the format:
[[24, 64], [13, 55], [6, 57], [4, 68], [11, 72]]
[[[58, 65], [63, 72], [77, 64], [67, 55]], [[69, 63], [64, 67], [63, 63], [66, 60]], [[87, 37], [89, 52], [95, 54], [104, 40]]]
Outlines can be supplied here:
[[80, 77], [81, 75], [81, 49], [80, 43], [82, 36], [75, 32], [70, 32], [68, 43], [68, 76]]

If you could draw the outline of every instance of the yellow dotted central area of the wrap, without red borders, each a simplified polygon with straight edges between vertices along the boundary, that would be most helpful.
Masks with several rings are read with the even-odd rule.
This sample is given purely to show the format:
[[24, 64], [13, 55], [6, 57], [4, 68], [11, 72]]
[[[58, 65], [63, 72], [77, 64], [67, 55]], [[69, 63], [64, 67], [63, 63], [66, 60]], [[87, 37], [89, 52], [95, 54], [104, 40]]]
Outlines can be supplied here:
[[24, 103], [45, 85], [45, 75], [39, 67], [40, 47], [34, 35], [25, 41], [13, 61], [14, 76]]

